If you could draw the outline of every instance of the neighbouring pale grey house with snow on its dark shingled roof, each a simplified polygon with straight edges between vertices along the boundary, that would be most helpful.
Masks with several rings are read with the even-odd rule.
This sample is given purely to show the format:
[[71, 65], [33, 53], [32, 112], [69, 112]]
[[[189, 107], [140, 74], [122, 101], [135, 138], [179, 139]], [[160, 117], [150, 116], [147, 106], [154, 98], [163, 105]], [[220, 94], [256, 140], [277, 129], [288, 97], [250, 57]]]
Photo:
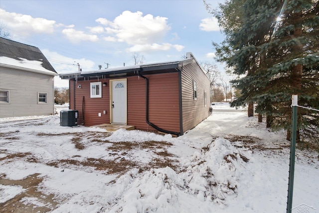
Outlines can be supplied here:
[[56, 75], [39, 48], [0, 38], [0, 118], [54, 114]]

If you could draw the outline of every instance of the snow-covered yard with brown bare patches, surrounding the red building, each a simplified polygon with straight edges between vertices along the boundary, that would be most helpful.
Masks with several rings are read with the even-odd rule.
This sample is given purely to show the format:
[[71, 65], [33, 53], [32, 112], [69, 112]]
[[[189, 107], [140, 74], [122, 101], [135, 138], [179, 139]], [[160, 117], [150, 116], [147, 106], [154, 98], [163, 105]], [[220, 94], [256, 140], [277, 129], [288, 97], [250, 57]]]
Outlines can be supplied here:
[[[58, 115], [0, 119], [0, 212], [285, 212], [285, 134], [213, 108], [178, 138], [62, 127]], [[297, 149], [293, 213], [319, 212], [318, 177], [318, 153]]]

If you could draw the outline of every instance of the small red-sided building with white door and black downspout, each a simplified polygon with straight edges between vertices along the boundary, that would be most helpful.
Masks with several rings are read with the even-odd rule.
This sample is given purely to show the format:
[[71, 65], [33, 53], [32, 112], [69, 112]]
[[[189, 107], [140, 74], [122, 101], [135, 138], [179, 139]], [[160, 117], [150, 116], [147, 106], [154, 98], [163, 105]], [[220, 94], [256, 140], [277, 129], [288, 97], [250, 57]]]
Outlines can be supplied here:
[[118, 124], [183, 135], [209, 116], [210, 80], [185, 59], [60, 74], [78, 124]]

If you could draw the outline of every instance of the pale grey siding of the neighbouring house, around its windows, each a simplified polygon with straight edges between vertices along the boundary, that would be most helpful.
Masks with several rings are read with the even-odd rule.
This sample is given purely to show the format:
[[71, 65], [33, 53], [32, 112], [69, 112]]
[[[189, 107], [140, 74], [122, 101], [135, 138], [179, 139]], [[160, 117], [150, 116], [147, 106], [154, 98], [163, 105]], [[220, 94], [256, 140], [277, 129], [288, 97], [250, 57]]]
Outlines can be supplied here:
[[[0, 103], [0, 118], [54, 114], [53, 76], [0, 67], [0, 89], [9, 90], [9, 103]], [[38, 92], [47, 103], [38, 103]]]

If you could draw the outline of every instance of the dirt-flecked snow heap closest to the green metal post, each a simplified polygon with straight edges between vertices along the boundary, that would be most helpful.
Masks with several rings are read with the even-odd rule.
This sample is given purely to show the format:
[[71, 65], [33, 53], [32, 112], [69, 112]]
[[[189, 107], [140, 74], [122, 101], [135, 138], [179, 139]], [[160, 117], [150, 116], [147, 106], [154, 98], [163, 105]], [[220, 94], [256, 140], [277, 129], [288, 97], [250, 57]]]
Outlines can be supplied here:
[[243, 165], [249, 160], [224, 138], [216, 139], [207, 149], [192, 156], [186, 172], [187, 188], [197, 199], [224, 208], [226, 197], [237, 193], [239, 172], [244, 172]]

